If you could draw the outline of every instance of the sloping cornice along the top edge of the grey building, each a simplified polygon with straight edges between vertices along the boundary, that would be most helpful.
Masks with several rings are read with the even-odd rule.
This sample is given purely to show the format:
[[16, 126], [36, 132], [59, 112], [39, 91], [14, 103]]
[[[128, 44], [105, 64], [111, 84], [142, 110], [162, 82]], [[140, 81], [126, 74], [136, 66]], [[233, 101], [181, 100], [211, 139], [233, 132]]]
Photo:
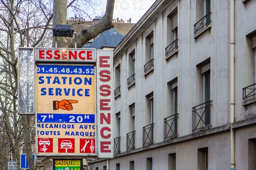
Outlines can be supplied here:
[[113, 51], [113, 61], [115, 61], [123, 51], [125, 51], [131, 43], [133, 43], [143, 32], [150, 26], [152, 22], [166, 9], [173, 0], [156, 0], [156, 2], [148, 9], [138, 23], [131, 31], [122, 39]]

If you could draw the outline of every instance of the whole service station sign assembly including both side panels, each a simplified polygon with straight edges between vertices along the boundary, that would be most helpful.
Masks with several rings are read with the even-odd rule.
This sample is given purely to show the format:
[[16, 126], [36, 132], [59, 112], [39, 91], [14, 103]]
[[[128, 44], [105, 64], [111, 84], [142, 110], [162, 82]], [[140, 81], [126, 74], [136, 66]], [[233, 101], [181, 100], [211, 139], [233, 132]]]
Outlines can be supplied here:
[[[22, 80], [19, 78], [23, 83], [19, 84], [22, 89], [19, 90], [19, 100], [22, 98], [20, 104], [25, 106], [19, 107], [19, 112], [31, 114], [35, 110], [37, 156], [113, 158], [112, 51], [57, 48], [19, 50], [25, 51], [19, 52], [20, 58], [23, 58], [22, 54], [26, 54], [26, 58], [35, 54], [34, 80], [29, 74], [30, 81], [35, 82], [34, 86], [30, 82], [22, 89], [26, 84], [24, 80], [29, 80], [24, 72], [26, 68], [31, 71], [34, 56], [30, 65], [19, 67], [25, 68], [19, 70], [23, 75]], [[96, 54], [100, 62], [96, 64], [97, 70]], [[20, 63], [24, 63], [24, 60]], [[23, 95], [27, 86], [35, 89], [31, 104], [25, 103]], [[96, 103], [100, 106], [97, 109]], [[31, 106], [35, 109], [26, 109]]]

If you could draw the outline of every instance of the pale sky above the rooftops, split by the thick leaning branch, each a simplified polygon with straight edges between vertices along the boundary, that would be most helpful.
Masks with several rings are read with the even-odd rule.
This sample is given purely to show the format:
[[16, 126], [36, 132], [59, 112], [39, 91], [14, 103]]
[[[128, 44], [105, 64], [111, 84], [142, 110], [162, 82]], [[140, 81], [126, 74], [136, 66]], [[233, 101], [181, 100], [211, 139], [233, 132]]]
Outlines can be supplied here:
[[[93, 19], [105, 12], [106, 2], [107, 0], [91, 0], [91, 4], [81, 3], [79, 8], [83, 9]], [[115, 0], [113, 19], [119, 17], [119, 20], [123, 19], [127, 22], [131, 18], [131, 23], [137, 23], [154, 2], [155, 0]], [[74, 17], [75, 14], [76, 12], [72, 9], [68, 9], [68, 17]], [[87, 15], [78, 14], [78, 17], [85, 18]]]

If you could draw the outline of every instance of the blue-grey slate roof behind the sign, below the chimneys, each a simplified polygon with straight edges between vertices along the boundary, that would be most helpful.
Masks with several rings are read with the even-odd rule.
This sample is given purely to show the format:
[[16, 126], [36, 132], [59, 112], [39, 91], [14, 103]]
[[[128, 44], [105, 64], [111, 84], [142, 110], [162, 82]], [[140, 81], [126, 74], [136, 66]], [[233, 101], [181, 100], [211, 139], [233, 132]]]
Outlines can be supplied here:
[[115, 29], [111, 28], [102, 32], [90, 45], [84, 45], [82, 48], [102, 49], [103, 47], [115, 48], [125, 35], [120, 34]]

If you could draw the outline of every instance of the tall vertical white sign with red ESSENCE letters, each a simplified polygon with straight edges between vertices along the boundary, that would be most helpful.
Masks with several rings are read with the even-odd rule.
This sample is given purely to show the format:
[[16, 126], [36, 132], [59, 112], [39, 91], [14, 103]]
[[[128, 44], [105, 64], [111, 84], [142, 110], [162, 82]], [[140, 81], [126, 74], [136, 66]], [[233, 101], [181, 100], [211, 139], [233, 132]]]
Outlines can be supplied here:
[[113, 52], [97, 50], [98, 157], [113, 158]]

